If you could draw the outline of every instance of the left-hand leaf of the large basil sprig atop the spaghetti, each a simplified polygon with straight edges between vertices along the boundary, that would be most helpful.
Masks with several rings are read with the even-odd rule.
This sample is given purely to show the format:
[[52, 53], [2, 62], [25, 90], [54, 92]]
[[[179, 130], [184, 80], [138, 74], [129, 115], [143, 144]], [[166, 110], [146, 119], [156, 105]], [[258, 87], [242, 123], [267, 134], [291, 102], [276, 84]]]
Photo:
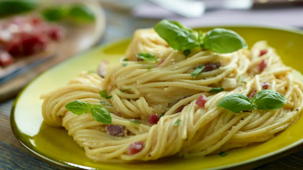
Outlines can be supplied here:
[[154, 26], [154, 30], [171, 48], [178, 51], [199, 46], [195, 32], [177, 21], [161, 20]]

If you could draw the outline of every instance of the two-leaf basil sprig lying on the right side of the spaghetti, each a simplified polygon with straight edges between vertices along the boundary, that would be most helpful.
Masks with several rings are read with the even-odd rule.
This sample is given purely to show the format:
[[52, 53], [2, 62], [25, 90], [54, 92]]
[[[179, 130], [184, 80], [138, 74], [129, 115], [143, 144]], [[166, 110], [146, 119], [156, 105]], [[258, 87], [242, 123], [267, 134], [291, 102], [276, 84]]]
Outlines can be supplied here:
[[287, 99], [278, 92], [272, 90], [261, 90], [255, 94], [254, 98], [248, 99], [243, 94], [231, 94], [223, 97], [217, 104], [232, 112], [239, 113], [245, 110], [275, 110], [283, 107]]

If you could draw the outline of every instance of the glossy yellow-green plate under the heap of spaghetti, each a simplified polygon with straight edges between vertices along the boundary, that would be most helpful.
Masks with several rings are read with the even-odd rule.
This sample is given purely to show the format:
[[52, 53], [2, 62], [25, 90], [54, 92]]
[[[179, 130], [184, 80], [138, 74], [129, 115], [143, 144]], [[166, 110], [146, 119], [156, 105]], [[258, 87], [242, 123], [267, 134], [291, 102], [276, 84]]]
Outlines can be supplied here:
[[[274, 28], [225, 27], [238, 32], [251, 47], [259, 40], [267, 40], [275, 47], [288, 66], [303, 72], [303, 33]], [[201, 28], [208, 31], [212, 28]], [[225, 157], [210, 155], [204, 158], [163, 158], [138, 164], [106, 164], [94, 162], [85, 156], [84, 149], [68, 136], [64, 128], [53, 128], [43, 123], [42, 100], [39, 95], [48, 93], [75, 78], [82, 70], [95, 70], [98, 63], [107, 59], [111, 64], [119, 61], [130, 39], [116, 41], [79, 54], [49, 69], [32, 81], [16, 99], [11, 114], [15, 136], [31, 152], [48, 162], [84, 169], [102, 170], [201, 170], [239, 168], [251, 169], [265, 162], [284, 156], [303, 146], [303, 117], [284, 132], [260, 145], [234, 149]]]

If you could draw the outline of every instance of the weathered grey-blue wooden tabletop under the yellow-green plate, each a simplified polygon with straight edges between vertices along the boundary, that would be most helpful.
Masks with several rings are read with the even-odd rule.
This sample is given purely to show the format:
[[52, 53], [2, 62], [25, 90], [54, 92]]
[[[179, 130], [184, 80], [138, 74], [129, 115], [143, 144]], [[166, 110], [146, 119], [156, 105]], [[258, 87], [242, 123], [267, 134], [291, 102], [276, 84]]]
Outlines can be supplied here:
[[[138, 28], [152, 27], [157, 21], [136, 19], [125, 13], [106, 10], [107, 26], [99, 44], [131, 36]], [[12, 103], [9, 100], [0, 103], [0, 170], [62, 170], [29, 153], [12, 133], [9, 116]], [[284, 158], [269, 162], [255, 170], [302, 170], [303, 149]]]

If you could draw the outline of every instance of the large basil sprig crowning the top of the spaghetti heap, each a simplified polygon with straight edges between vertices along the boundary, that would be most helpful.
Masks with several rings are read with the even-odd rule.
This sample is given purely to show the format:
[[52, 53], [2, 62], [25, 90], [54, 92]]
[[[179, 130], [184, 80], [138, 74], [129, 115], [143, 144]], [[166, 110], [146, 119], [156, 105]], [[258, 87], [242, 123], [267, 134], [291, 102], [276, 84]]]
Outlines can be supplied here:
[[215, 28], [205, 35], [198, 31], [197, 35], [194, 30], [177, 21], [161, 20], [154, 26], [154, 30], [171, 48], [178, 51], [188, 51], [200, 46], [217, 53], [231, 53], [247, 48], [245, 40], [239, 34], [224, 28]]

